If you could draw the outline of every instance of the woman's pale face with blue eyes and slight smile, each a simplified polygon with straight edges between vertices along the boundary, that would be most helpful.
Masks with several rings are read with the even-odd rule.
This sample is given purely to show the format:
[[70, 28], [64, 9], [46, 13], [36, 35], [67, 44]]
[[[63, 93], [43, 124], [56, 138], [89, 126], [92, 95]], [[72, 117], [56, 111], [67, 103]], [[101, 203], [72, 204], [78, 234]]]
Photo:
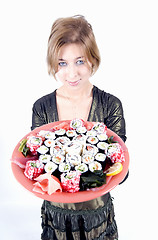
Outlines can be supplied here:
[[56, 78], [64, 87], [78, 89], [89, 83], [92, 64], [87, 61], [79, 44], [68, 44], [60, 48]]

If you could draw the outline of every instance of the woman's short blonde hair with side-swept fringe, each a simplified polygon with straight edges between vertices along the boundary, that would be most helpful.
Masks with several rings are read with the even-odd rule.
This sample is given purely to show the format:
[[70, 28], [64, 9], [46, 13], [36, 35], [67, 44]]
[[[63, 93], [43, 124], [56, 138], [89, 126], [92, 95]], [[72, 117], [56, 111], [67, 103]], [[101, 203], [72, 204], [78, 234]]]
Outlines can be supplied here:
[[77, 43], [83, 47], [85, 57], [92, 64], [92, 73], [94, 74], [100, 64], [99, 49], [92, 26], [81, 15], [59, 18], [54, 22], [48, 39], [48, 73], [55, 77], [58, 71], [59, 49], [69, 43]]

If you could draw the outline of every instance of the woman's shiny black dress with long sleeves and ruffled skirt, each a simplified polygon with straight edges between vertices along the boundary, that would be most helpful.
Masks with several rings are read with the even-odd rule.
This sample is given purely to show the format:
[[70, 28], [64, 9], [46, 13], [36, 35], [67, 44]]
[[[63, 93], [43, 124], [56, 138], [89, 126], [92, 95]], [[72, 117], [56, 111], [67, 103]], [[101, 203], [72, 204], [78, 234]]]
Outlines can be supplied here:
[[[59, 121], [56, 90], [33, 105], [32, 130], [43, 124]], [[104, 122], [126, 140], [122, 104], [118, 98], [93, 87], [93, 101], [88, 121]], [[82, 203], [42, 205], [42, 240], [114, 240], [118, 239], [117, 225], [110, 193]]]

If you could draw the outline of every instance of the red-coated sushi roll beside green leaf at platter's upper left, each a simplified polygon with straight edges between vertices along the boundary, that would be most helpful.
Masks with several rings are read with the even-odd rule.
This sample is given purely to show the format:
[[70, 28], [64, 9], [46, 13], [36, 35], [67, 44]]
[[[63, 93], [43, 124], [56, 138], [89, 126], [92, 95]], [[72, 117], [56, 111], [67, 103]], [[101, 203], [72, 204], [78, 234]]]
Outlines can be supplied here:
[[42, 137], [29, 136], [26, 146], [30, 149], [30, 152], [33, 155], [37, 155], [37, 149], [43, 144]]

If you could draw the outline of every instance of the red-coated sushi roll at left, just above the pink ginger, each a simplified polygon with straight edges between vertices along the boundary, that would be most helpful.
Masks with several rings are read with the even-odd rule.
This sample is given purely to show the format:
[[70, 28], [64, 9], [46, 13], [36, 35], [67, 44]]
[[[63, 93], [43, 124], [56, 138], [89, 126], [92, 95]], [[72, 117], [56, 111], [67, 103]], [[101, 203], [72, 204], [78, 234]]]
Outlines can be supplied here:
[[27, 178], [33, 180], [44, 172], [44, 165], [39, 161], [27, 161], [24, 174]]

